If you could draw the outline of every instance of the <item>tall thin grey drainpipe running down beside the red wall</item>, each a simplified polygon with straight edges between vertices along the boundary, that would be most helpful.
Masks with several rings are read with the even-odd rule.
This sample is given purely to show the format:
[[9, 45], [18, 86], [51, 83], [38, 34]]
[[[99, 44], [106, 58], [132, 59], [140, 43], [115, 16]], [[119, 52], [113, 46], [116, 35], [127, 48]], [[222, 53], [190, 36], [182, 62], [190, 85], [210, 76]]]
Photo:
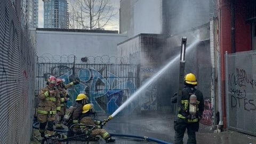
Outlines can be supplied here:
[[[220, 0], [219, 2], [219, 31], [220, 31]], [[223, 115], [222, 115], [222, 98], [221, 98], [221, 92], [222, 92], [222, 87], [221, 87], [221, 49], [220, 49], [220, 33], [219, 33], [219, 50], [217, 51], [217, 75], [218, 75], [218, 111], [220, 113], [220, 121], [218, 124], [218, 132], [221, 132], [221, 129], [223, 127]]]

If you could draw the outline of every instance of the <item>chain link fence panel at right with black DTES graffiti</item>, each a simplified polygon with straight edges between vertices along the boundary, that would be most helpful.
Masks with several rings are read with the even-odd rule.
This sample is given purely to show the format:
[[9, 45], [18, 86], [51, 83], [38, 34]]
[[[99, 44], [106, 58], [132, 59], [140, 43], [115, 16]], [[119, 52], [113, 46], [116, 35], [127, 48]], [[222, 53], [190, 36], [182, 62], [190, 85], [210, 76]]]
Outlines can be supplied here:
[[256, 51], [226, 54], [227, 125], [256, 135]]

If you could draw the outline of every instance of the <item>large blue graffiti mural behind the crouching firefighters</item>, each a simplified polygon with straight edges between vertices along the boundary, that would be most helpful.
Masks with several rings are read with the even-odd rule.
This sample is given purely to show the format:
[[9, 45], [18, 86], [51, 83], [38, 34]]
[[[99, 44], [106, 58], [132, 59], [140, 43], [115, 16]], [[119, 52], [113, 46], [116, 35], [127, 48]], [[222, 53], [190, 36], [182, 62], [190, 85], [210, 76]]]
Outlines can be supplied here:
[[66, 84], [73, 81], [74, 76], [78, 77], [80, 83], [68, 89], [72, 98], [69, 104], [75, 101], [79, 93], [85, 93], [89, 96], [95, 110], [112, 113], [136, 90], [134, 74], [128, 72], [127, 75], [129, 74], [132, 76], [118, 77], [104, 67], [99, 70], [93, 67], [75, 68], [75, 73], [73, 73], [73, 68], [60, 65], [52, 67], [51, 73], [45, 73], [44, 77], [54, 75], [65, 79]]

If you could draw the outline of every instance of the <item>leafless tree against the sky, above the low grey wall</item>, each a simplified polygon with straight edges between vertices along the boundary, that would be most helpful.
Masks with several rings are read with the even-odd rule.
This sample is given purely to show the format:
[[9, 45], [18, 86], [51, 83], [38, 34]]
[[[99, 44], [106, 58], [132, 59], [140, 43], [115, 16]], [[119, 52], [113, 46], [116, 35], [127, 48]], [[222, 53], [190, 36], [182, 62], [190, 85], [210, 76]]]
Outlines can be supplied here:
[[69, 27], [101, 29], [117, 14], [111, 0], [69, 0]]

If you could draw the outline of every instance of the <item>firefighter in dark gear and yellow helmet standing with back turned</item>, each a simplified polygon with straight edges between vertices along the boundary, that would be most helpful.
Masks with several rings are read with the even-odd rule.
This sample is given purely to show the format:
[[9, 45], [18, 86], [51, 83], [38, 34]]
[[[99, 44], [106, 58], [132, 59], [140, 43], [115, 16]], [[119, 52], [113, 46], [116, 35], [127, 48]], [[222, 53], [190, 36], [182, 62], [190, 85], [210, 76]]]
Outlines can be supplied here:
[[[174, 143], [183, 143], [184, 133], [187, 129], [188, 142], [196, 143], [196, 132], [199, 129], [199, 119], [204, 111], [204, 97], [201, 91], [195, 89], [197, 85], [196, 76], [192, 73], [184, 77], [185, 87], [182, 90], [181, 106], [178, 119], [174, 122]], [[177, 102], [178, 94], [175, 93], [172, 102]]]

